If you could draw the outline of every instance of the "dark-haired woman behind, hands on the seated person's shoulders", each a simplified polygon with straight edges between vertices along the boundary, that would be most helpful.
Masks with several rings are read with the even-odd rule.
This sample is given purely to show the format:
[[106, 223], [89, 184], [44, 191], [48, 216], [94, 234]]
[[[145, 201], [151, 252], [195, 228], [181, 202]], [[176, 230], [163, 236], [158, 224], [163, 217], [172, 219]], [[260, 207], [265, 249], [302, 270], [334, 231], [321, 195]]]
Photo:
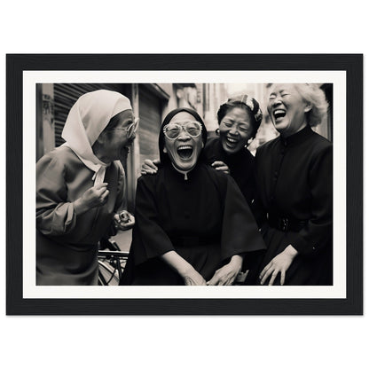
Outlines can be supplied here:
[[[240, 95], [229, 98], [219, 107], [218, 137], [208, 138], [203, 156], [214, 169], [230, 174], [251, 205], [255, 198], [254, 156], [247, 146], [255, 138], [263, 120], [255, 98]], [[160, 161], [145, 160], [142, 174], [153, 174]]]

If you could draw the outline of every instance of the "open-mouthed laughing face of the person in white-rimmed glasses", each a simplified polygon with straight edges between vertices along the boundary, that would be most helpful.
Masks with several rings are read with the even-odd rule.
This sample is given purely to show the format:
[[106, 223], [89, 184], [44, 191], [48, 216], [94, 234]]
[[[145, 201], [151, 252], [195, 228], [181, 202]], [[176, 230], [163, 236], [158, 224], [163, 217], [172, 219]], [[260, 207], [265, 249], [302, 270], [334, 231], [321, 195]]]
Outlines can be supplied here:
[[[186, 123], [194, 121], [196, 119], [192, 114], [179, 112], [170, 120], [166, 127], [170, 130], [170, 128], [175, 127], [174, 124], [184, 127]], [[170, 161], [177, 169], [189, 171], [196, 165], [203, 146], [201, 134], [198, 137], [193, 137], [186, 130], [182, 129], [177, 138], [170, 139], [165, 136], [163, 152], [168, 153]]]

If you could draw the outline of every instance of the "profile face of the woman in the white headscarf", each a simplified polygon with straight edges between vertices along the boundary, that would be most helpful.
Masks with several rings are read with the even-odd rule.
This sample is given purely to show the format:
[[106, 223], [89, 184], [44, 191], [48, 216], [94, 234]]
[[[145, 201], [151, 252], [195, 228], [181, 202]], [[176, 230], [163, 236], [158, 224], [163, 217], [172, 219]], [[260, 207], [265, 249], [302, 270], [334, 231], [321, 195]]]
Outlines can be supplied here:
[[113, 127], [106, 127], [97, 140], [102, 150], [101, 160], [126, 161], [129, 147], [136, 137], [136, 133], [130, 129], [135, 122], [132, 110], [116, 114], [112, 120], [116, 120]]

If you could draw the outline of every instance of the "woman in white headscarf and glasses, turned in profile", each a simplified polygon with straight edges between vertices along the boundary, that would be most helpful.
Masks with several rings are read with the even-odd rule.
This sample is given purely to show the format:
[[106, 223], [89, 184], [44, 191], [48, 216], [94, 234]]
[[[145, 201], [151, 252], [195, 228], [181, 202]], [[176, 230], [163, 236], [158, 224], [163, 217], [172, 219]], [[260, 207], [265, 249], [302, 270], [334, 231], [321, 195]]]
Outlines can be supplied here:
[[124, 170], [135, 138], [130, 100], [109, 90], [72, 106], [66, 144], [36, 165], [36, 284], [97, 285], [98, 241], [124, 205]]

